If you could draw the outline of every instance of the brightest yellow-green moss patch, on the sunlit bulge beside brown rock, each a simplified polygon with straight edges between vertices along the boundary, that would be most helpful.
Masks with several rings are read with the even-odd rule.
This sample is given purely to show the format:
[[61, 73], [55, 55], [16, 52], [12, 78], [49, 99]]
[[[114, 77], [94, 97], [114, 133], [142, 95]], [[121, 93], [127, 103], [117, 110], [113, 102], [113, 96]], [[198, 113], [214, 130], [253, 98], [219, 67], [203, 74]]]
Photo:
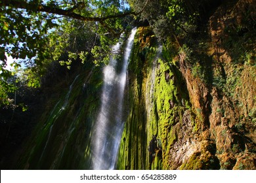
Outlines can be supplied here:
[[[186, 107], [190, 108], [187, 93], [178, 82], [179, 72], [175, 65], [161, 59], [158, 60], [160, 68], [156, 78], [156, 108], [158, 113], [158, 136], [163, 146], [163, 169], [170, 169], [169, 150], [177, 141], [177, 132], [174, 125], [182, 123], [182, 116]], [[182, 83], [182, 82], [179, 82]], [[181, 88], [179, 88], [181, 87]]]

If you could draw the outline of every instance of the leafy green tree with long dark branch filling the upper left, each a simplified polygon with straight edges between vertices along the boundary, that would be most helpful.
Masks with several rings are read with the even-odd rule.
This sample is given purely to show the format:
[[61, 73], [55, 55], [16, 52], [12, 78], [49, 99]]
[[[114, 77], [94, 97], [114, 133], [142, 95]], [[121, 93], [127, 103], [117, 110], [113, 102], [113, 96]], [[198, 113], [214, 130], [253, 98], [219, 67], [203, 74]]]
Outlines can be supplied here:
[[27, 60], [28, 86], [39, 86], [42, 65], [53, 60], [70, 67], [77, 56], [82, 61], [88, 54], [104, 59], [126, 17], [143, 10], [133, 12], [125, 5], [125, 0], [0, 0], [0, 105], [8, 104], [8, 93], [15, 90], [7, 81], [14, 73], [5, 69], [6, 54]]

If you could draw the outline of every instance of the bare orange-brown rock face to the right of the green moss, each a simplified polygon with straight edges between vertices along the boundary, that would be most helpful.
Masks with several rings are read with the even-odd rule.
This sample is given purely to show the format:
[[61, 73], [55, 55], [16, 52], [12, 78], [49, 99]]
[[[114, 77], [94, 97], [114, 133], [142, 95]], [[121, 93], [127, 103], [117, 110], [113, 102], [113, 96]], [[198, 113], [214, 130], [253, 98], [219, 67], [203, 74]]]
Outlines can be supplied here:
[[[244, 6], [241, 5], [241, 2], [224, 6], [236, 9], [237, 7], [246, 6], [245, 4], [249, 1], [244, 1]], [[235, 10], [234, 14], [240, 14], [240, 11]], [[184, 62], [184, 58], [180, 57], [181, 71], [188, 87], [192, 110], [196, 114], [196, 119], [200, 120], [198, 124], [201, 125], [202, 130], [198, 133], [201, 148], [198, 148], [198, 152], [190, 156], [190, 159], [184, 161], [180, 167], [181, 169], [256, 168], [255, 163], [249, 163], [249, 159], [251, 162], [255, 162], [255, 150], [250, 148], [251, 146], [255, 147], [255, 138], [249, 135], [255, 134], [255, 125], [253, 127], [252, 119], [247, 116], [247, 112], [255, 108], [255, 101], [250, 97], [253, 95], [252, 93], [255, 95], [255, 87], [251, 87], [251, 79], [255, 79], [255, 76], [247, 77], [251, 75], [251, 69], [255, 71], [255, 67], [241, 65], [239, 71], [234, 69], [234, 59], [236, 59], [236, 55], [232, 53], [234, 50], [228, 50], [223, 43], [225, 37], [229, 36], [224, 29], [232, 24], [231, 20], [232, 17], [226, 16], [223, 7], [218, 8], [210, 19], [211, 41], [216, 46], [214, 49], [217, 54], [216, 58], [212, 60], [215, 63], [211, 68], [213, 80], [216, 77], [215, 73], [219, 72], [218, 65], [221, 62], [221, 72], [225, 73], [226, 86], [225, 84], [224, 86], [218, 84], [215, 86], [214, 83], [213, 85], [205, 84], [197, 76], [192, 75], [190, 71], [193, 68]], [[244, 75], [245, 71], [248, 73], [247, 76]], [[234, 72], [236, 72], [236, 76], [233, 75]], [[244, 77], [247, 77], [247, 81], [244, 80]], [[232, 85], [234, 89], [228, 85], [230, 80], [236, 81]], [[221, 87], [229, 90], [224, 90]], [[251, 90], [247, 90], [247, 96], [245, 96], [242, 94], [245, 90], [242, 90], [242, 88], [247, 87], [251, 87]], [[238, 91], [240, 93], [237, 93]], [[240, 103], [240, 105], [237, 105], [237, 103]], [[248, 105], [250, 106], [249, 110]], [[215, 146], [215, 151], [211, 152], [203, 148], [203, 146], [207, 147], [209, 144]], [[249, 156], [245, 158], [245, 154]], [[207, 161], [209, 162], [206, 163]]]

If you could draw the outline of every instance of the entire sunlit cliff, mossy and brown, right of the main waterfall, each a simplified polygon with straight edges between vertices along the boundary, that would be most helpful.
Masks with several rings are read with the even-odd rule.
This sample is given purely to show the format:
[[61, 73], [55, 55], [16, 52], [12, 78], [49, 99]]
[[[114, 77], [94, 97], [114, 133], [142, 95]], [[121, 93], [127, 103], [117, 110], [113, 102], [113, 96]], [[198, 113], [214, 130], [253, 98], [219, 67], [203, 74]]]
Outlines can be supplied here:
[[139, 28], [119, 169], [256, 168], [253, 10], [223, 3], [204, 31], [162, 48]]

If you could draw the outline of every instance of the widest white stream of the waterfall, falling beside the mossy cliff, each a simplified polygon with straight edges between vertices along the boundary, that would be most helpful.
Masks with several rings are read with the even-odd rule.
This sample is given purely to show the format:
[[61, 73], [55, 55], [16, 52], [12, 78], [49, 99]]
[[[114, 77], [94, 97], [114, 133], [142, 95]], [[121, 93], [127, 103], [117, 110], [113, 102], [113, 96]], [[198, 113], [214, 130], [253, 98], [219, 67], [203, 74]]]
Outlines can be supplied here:
[[[123, 132], [123, 93], [127, 78], [127, 65], [137, 29], [127, 39], [123, 59], [110, 58], [104, 67], [101, 105], [93, 127], [92, 169], [114, 169], [121, 134]], [[122, 42], [117, 42], [112, 52], [119, 52]], [[120, 65], [121, 64], [121, 65]], [[119, 71], [120, 70], [120, 71]]]

